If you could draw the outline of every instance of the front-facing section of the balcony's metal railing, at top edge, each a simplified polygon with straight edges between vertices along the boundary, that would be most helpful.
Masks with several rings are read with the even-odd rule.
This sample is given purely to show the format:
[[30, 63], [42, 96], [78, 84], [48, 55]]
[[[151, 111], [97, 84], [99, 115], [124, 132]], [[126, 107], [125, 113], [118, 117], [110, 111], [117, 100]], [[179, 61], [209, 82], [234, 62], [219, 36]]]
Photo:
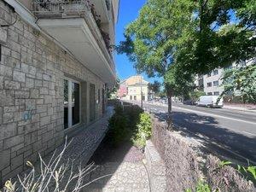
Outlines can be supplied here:
[[87, 0], [36, 0], [33, 1], [35, 15], [73, 15], [90, 11]]

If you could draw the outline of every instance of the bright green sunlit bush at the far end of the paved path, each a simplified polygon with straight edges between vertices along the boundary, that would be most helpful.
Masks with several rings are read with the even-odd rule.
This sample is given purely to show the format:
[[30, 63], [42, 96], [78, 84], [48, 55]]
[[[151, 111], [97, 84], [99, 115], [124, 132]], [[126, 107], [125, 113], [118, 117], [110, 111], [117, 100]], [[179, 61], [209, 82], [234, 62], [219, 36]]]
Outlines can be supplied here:
[[143, 148], [146, 141], [151, 137], [152, 122], [148, 113], [140, 113], [137, 129], [132, 137], [132, 142], [138, 147]]

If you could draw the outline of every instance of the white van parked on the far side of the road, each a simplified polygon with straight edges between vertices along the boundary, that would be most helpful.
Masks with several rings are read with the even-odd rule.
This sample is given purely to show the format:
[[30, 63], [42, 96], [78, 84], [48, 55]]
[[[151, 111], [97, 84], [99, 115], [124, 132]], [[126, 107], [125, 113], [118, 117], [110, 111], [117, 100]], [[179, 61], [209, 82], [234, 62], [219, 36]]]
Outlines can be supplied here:
[[211, 108], [222, 108], [223, 107], [223, 98], [217, 103], [218, 96], [201, 96], [197, 101], [197, 106], [205, 106]]

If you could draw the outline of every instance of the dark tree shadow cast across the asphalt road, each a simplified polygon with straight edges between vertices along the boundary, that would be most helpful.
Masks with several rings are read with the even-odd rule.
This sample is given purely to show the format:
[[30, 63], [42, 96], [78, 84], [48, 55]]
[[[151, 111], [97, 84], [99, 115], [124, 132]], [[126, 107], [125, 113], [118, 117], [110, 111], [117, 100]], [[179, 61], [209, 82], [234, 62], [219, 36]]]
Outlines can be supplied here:
[[[167, 113], [156, 112], [154, 115], [161, 121], [167, 117]], [[247, 137], [231, 131], [219, 125], [215, 118], [196, 113], [173, 112], [172, 119], [177, 131], [182, 131], [186, 137], [189, 134], [189, 137], [200, 138], [207, 150], [220, 159], [231, 160], [242, 165], [248, 164], [247, 159], [256, 162], [256, 137]], [[240, 155], [247, 159], [241, 158]]]

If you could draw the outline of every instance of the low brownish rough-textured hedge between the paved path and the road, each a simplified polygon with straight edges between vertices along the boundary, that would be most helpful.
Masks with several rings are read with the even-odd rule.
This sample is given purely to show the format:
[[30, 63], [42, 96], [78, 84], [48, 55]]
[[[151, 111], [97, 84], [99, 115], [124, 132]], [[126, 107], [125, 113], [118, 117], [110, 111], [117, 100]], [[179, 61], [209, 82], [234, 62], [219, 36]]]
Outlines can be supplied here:
[[253, 183], [247, 182], [231, 166], [219, 167], [220, 160], [207, 154], [204, 146], [195, 139], [183, 136], [177, 131], [168, 131], [166, 124], [153, 120], [155, 148], [166, 164], [167, 191], [182, 192], [195, 189], [196, 184], [205, 178], [212, 189], [220, 191], [253, 192]]

